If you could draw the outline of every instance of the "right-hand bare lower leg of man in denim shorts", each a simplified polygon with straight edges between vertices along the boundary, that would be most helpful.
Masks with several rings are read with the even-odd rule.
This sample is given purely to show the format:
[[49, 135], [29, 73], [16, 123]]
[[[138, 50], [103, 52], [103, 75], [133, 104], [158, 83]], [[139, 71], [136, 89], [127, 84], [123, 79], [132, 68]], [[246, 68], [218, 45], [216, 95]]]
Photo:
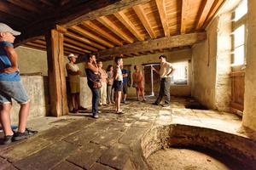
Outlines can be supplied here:
[[26, 104], [20, 105], [20, 112], [19, 112], [19, 127], [18, 132], [24, 133], [26, 129], [26, 121], [27, 116], [30, 108], [30, 102], [27, 102]]

